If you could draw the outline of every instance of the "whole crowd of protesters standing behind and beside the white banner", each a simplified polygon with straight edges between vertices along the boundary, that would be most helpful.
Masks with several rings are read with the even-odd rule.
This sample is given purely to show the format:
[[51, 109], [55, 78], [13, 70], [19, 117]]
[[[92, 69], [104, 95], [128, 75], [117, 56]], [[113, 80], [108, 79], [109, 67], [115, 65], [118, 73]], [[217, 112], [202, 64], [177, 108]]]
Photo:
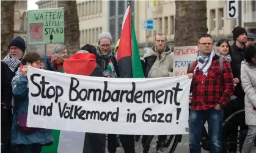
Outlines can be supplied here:
[[[240, 149], [243, 153], [251, 152], [256, 137], [256, 36], [247, 33], [243, 27], [235, 27], [232, 33], [234, 43], [231, 46], [227, 39], [217, 42], [219, 55], [213, 52], [211, 35], [202, 34], [197, 44], [197, 59], [188, 66], [188, 77], [192, 79], [189, 114], [191, 153], [201, 152], [201, 144], [207, 139], [210, 140], [210, 152], [221, 153], [222, 120], [240, 109], [245, 109], [245, 114], [238, 121], [238, 126], [241, 131], [247, 131]], [[120, 77], [111, 46], [111, 34], [103, 32], [98, 35], [97, 46], [86, 44], [68, 58], [67, 48], [60, 44], [49, 57], [35, 52], [26, 53], [24, 39], [20, 36], [13, 38], [9, 54], [1, 61], [1, 152], [39, 153], [42, 146], [51, 145], [54, 141], [51, 129], [26, 127], [29, 102], [27, 66], [55, 72], [65, 69], [65, 73], [78, 74], [65, 66], [70, 64], [70, 60], [79, 58], [82, 59], [81, 70], [84, 70], [82, 75]], [[118, 47], [115, 51], [118, 53]], [[158, 33], [155, 45], [141, 59], [145, 78], [173, 77], [173, 60], [174, 54], [167, 46], [166, 35]], [[108, 73], [109, 61], [114, 66], [114, 73]], [[88, 67], [92, 64], [97, 67], [89, 72]], [[230, 104], [230, 97], [234, 96], [236, 101]], [[209, 134], [202, 132], [206, 121]], [[230, 126], [226, 134], [236, 141], [238, 126]], [[147, 137], [142, 136], [142, 147]], [[110, 153], [116, 152], [120, 146], [119, 139], [125, 153], [135, 153], [134, 135], [108, 134]], [[161, 152], [159, 144], [165, 139], [166, 135], [158, 136], [156, 152]], [[103, 153], [106, 134], [86, 133], [85, 144], [88, 153]], [[236, 152], [236, 149], [236, 145], [230, 146], [230, 152]]]

